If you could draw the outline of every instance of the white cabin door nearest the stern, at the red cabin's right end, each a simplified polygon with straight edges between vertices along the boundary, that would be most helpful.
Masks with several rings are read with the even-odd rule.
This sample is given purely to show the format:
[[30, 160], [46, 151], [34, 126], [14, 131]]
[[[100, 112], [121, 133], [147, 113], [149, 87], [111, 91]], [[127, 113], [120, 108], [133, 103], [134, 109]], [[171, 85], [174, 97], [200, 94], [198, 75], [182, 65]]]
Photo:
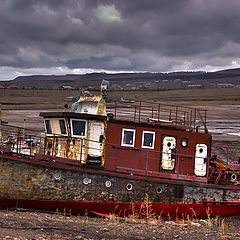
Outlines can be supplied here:
[[207, 171], [207, 145], [197, 144], [195, 151], [195, 167], [194, 174], [196, 176], [202, 177], [206, 175]]

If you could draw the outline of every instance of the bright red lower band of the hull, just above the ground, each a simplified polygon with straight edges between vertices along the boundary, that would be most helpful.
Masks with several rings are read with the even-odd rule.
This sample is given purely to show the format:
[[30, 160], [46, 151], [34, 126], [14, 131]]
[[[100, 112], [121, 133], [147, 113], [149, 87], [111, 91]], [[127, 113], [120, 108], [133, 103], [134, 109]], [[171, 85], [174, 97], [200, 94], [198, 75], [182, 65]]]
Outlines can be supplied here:
[[[146, 205], [145, 205], [146, 206]], [[207, 217], [228, 217], [240, 215], [240, 204], [168, 204], [168, 203], [151, 203], [148, 204], [151, 213], [156, 216], [167, 218], [190, 217], [207, 218]], [[40, 201], [40, 200], [23, 200], [23, 199], [0, 199], [0, 209], [24, 208], [49, 212], [66, 212], [71, 214], [84, 215], [86, 212], [93, 215], [92, 212], [101, 214], [115, 214], [116, 216], [128, 216], [134, 213], [144, 217], [144, 204], [141, 203], [99, 203], [99, 202], [61, 202], [61, 201]]]

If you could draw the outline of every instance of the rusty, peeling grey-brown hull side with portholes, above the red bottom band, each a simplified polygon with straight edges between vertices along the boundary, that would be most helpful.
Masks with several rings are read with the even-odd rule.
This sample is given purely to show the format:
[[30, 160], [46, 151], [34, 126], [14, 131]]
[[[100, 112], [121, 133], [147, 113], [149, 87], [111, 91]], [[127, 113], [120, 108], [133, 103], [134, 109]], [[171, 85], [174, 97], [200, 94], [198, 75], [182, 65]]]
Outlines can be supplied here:
[[188, 186], [69, 171], [0, 158], [0, 198], [82, 202], [201, 203], [239, 201], [240, 189]]

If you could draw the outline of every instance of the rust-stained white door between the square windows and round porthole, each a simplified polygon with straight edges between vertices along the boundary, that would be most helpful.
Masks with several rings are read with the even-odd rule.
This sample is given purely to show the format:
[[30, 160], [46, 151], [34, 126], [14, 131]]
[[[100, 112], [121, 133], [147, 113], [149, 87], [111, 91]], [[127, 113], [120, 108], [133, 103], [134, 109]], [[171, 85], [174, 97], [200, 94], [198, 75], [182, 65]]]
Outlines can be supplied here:
[[173, 170], [176, 161], [176, 138], [164, 136], [162, 139], [161, 169]]

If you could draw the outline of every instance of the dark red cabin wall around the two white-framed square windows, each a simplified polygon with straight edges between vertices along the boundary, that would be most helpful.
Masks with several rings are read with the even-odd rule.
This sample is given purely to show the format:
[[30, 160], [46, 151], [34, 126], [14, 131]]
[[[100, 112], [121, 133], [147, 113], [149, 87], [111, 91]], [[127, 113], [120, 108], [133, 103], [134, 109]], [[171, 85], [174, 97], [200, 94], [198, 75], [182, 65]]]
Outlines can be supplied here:
[[[124, 124], [108, 122], [105, 164], [107, 168], [115, 169], [116, 166], [119, 166], [159, 172], [159, 170], [161, 170], [161, 153], [163, 152], [162, 136], [176, 137], [176, 162], [173, 173], [184, 174], [186, 172], [180, 167], [183, 162], [186, 162], [185, 166], [194, 167], [191, 162], [194, 162], [193, 156], [195, 155], [195, 146], [197, 143], [204, 143], [208, 146], [208, 149], [210, 149], [211, 140], [209, 134], [151, 128], [151, 126], [148, 128], [142, 126], [128, 127], [128, 129], [136, 130], [135, 144], [134, 147], [125, 147], [121, 146], [122, 129], [124, 128], [126, 128]], [[154, 149], [146, 150], [141, 147], [143, 131], [155, 132]], [[182, 138], [189, 139], [188, 148], [181, 147]], [[168, 172], [166, 170], [161, 171]], [[193, 169], [186, 173], [188, 175], [194, 175]]]

